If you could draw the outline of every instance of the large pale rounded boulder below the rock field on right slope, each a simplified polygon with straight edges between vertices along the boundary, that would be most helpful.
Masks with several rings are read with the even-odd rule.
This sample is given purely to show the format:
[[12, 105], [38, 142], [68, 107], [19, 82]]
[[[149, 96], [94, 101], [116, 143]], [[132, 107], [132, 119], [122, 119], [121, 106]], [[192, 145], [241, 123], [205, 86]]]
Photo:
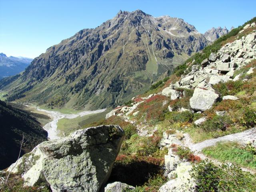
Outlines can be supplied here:
[[217, 101], [219, 95], [207, 83], [202, 82], [194, 90], [192, 98], [190, 98], [190, 106], [196, 111], [205, 111], [210, 109], [214, 102]]

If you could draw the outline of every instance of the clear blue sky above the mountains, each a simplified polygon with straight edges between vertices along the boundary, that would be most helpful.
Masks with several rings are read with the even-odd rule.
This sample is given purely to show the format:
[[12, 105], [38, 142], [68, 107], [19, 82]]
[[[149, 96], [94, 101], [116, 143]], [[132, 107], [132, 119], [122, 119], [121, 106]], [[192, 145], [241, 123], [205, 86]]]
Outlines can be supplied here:
[[239, 26], [256, 16], [256, 0], [0, 0], [0, 52], [34, 58], [119, 10], [184, 19], [204, 33]]

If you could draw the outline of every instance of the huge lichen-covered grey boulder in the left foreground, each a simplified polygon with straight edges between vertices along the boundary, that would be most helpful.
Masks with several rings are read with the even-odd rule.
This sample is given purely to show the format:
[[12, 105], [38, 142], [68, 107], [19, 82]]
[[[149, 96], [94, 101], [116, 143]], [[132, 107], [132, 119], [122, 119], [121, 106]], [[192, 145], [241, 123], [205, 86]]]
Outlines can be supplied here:
[[53, 192], [98, 192], [110, 176], [123, 138], [124, 130], [115, 125], [77, 130], [40, 143], [8, 171], [22, 174], [26, 186], [45, 182]]

